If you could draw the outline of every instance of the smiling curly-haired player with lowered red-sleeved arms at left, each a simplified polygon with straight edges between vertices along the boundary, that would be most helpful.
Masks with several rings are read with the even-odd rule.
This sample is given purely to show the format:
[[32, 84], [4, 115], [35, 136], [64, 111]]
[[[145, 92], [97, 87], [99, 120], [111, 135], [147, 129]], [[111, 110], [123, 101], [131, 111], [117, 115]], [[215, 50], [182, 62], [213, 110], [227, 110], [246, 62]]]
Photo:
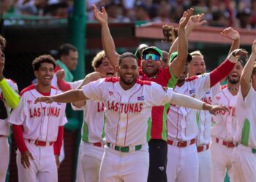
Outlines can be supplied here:
[[66, 104], [34, 103], [39, 96], [56, 95], [60, 91], [50, 85], [56, 66], [50, 55], [39, 56], [32, 66], [38, 84], [20, 92], [20, 103], [8, 119], [18, 146], [18, 180], [58, 181], [63, 126], [67, 122], [64, 116]]

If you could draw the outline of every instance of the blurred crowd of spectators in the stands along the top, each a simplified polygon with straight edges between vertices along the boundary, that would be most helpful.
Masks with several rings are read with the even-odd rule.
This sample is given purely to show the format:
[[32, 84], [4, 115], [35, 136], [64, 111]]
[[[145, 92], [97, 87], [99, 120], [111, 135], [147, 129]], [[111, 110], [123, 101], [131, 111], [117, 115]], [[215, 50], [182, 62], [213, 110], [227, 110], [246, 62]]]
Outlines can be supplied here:
[[[1, 14], [68, 17], [73, 1], [0, 0], [0, 9]], [[193, 7], [194, 14], [205, 13], [206, 25], [256, 28], [256, 0], [86, 0], [89, 22], [94, 21], [91, 4], [105, 7], [111, 23], [178, 23], [184, 10]]]

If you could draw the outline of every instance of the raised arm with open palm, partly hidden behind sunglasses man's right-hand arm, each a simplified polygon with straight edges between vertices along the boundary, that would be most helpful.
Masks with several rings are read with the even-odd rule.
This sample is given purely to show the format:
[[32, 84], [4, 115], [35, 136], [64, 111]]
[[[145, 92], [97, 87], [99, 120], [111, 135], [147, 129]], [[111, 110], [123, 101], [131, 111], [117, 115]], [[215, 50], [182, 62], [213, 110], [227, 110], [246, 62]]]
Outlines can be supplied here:
[[[185, 33], [187, 36], [187, 39], [189, 38], [190, 33], [198, 26], [203, 25], [206, 23], [206, 20], [203, 20], [204, 14], [200, 15], [193, 15], [189, 18], [189, 22], [187, 23], [185, 27]], [[176, 38], [175, 41], [173, 41], [173, 44], [170, 47], [169, 50], [169, 57], [173, 52], [178, 51], [178, 37]]]

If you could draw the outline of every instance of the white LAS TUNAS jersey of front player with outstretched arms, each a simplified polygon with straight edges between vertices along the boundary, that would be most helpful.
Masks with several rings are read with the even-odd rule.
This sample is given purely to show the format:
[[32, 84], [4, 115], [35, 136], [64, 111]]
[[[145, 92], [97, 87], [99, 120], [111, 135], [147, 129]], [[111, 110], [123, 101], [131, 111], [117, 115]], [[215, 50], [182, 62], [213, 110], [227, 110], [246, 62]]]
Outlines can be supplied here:
[[172, 89], [140, 79], [129, 90], [121, 87], [119, 78], [99, 79], [82, 89], [87, 98], [104, 102], [106, 141], [118, 146], [147, 143], [152, 106], [170, 103], [173, 98]]

